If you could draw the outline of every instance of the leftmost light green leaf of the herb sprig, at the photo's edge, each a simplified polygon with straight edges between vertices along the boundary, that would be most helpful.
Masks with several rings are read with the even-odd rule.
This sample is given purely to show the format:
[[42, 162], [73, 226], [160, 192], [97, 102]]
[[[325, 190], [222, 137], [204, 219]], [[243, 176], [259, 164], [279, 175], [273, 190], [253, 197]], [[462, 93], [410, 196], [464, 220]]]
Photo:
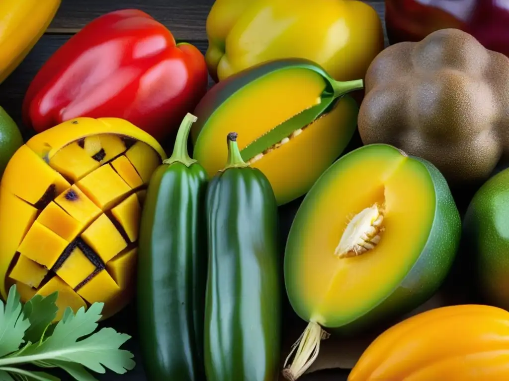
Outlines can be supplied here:
[[15, 352], [23, 343], [25, 331], [30, 321], [22, 312], [20, 295], [12, 285], [7, 296], [7, 303], [0, 301], [0, 357]]

